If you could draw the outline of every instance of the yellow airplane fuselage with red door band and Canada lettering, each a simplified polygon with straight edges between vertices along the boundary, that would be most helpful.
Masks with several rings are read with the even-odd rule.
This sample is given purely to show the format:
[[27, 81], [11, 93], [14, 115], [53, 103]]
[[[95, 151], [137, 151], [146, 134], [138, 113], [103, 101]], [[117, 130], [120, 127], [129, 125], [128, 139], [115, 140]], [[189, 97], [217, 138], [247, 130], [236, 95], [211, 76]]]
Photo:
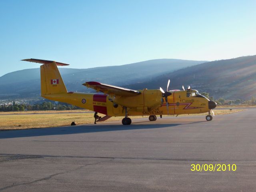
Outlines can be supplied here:
[[[187, 91], [173, 91], [172, 95], [168, 96], [169, 112], [166, 108], [166, 102], [163, 102], [159, 106], [148, 108], [147, 106], [145, 107], [147, 101], [142, 99], [142, 105], [140, 107], [127, 108], [128, 116], [197, 114], [209, 111], [208, 99], [203, 97], [187, 97], [186, 95]], [[42, 95], [42, 97], [49, 100], [66, 102], [108, 116], [125, 115], [124, 108], [118, 104], [114, 105], [112, 97], [107, 94], [68, 92], [47, 94]], [[144, 98], [143, 92], [140, 96], [132, 96], [130, 98], [134, 100], [136, 97]], [[127, 97], [127, 100], [129, 100], [129, 97]], [[116, 99], [116, 102], [118, 103], [118, 99]]]

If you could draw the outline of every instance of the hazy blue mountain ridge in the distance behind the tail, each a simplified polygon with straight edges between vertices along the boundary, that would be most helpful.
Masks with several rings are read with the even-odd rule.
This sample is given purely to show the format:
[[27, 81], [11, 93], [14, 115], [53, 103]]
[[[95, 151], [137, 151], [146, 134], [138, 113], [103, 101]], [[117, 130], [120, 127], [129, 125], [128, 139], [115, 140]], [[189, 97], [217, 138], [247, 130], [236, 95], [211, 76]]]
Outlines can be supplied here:
[[[88, 69], [59, 68], [68, 91], [91, 92], [82, 86], [98, 81], [117, 86], [144, 82], [166, 72], [193, 66], [205, 61], [155, 59], [121, 66]], [[34, 98], [40, 95], [40, 69], [11, 72], [0, 77], [0, 98]]]

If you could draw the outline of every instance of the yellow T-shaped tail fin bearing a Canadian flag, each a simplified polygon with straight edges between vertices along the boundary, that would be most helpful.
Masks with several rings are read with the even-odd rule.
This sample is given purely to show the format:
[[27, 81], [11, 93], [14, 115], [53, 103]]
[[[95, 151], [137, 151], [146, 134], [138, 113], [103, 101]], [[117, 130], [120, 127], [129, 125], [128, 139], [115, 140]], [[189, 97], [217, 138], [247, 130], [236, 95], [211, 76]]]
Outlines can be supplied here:
[[24, 59], [22, 61], [29, 61], [29, 62], [43, 64], [40, 66], [41, 96], [46, 94], [68, 92], [57, 67], [57, 65], [66, 66], [68, 64], [49, 61], [49, 60], [40, 60], [40, 59]]

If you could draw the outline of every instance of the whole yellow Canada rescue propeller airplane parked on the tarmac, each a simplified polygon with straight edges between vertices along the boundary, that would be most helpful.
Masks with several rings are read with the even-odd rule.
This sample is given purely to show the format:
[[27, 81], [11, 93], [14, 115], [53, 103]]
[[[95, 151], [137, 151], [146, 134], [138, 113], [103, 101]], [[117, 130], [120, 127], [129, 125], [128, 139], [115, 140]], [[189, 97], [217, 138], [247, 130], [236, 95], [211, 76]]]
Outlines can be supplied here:
[[98, 121], [104, 121], [112, 116], [124, 116], [123, 125], [130, 125], [128, 116], [149, 116], [150, 121], [156, 120], [156, 115], [198, 114], [208, 112], [206, 120], [212, 120], [211, 112], [216, 102], [208, 100], [197, 90], [182, 86], [182, 90], [143, 89], [131, 90], [122, 87], [85, 82], [83, 85], [100, 93], [68, 92], [57, 66], [68, 64], [40, 59], [24, 59], [23, 61], [41, 63], [41, 96], [54, 101], [65, 102], [95, 112], [105, 114]]

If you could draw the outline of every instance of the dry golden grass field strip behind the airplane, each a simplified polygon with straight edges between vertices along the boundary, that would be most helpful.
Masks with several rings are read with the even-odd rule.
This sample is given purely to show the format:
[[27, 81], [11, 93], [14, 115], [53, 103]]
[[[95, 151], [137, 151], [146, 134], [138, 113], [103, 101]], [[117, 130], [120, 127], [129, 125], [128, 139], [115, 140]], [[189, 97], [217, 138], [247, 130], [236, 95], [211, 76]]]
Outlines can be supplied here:
[[[216, 109], [216, 115], [240, 112], [245, 109], [221, 110]], [[50, 113], [50, 114], [49, 114]], [[28, 112], [0, 112], [0, 130], [28, 129], [67, 126], [72, 121], [77, 124], [94, 123], [93, 113], [88, 110], [68, 110], [68, 111], [28, 111]], [[204, 115], [205, 114], [193, 114]], [[99, 116], [104, 116], [99, 114]], [[186, 115], [180, 115], [186, 116]], [[148, 117], [148, 116], [144, 116]], [[111, 117], [107, 121], [122, 120], [123, 117]], [[142, 118], [142, 116], [130, 116], [131, 119]], [[100, 123], [100, 122], [99, 122]], [[120, 122], [121, 123], [121, 122]]]

